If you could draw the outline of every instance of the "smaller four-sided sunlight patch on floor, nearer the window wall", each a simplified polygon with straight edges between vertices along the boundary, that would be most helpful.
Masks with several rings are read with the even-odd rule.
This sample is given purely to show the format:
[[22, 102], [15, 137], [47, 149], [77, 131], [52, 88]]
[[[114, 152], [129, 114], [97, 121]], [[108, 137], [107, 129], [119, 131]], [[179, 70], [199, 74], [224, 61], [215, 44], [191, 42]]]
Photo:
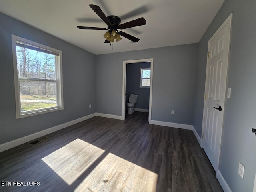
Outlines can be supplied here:
[[71, 185], [104, 150], [76, 139], [42, 160], [68, 185]]

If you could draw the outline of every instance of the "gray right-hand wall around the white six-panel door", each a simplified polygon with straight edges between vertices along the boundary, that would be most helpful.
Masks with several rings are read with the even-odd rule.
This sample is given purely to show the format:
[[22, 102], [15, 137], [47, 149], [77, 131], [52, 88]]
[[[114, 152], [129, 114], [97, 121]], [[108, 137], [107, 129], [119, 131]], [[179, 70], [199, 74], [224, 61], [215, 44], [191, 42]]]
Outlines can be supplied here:
[[[201, 135], [208, 40], [234, 12], [228, 88], [220, 156], [220, 172], [232, 192], [252, 192], [256, 170], [256, 1], [226, 0], [198, 44], [196, 102], [193, 125]], [[245, 166], [244, 179], [238, 164]]]

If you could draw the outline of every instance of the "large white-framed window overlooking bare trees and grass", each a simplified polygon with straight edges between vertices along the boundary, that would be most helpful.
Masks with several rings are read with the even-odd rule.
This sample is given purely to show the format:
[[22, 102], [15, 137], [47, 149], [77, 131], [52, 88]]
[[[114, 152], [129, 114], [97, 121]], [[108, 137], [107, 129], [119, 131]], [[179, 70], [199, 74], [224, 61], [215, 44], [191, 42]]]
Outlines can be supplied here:
[[62, 51], [12, 35], [16, 118], [63, 109]]

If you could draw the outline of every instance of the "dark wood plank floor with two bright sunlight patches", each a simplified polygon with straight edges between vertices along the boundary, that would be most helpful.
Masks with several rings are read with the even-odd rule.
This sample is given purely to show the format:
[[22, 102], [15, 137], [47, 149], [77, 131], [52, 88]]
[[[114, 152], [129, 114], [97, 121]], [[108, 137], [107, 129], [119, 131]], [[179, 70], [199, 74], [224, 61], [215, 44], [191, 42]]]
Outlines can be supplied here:
[[94, 117], [47, 136], [0, 153], [1, 192], [223, 191], [193, 132], [149, 125], [148, 113]]

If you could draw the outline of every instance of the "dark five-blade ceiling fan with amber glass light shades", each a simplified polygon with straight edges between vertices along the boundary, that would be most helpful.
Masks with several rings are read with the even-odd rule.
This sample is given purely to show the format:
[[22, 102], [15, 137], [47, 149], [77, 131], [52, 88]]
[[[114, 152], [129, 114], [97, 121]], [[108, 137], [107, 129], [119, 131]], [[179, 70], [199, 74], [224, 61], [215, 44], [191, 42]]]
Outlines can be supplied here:
[[91, 4], [89, 6], [107, 24], [108, 28], [77, 26], [78, 29], [108, 30], [103, 35], [104, 38], [106, 39], [104, 43], [114, 42], [114, 40], [120, 41], [122, 39], [120, 36], [123, 36], [135, 43], [140, 40], [130, 34], [127, 34], [122, 31], [118, 31], [118, 29], [122, 30], [122, 29], [131, 28], [131, 27], [146, 25], [146, 20], [143, 17], [132, 20], [130, 22], [120, 24], [121, 19], [118, 16], [115, 16], [115, 15], [106, 16], [98, 5]]

